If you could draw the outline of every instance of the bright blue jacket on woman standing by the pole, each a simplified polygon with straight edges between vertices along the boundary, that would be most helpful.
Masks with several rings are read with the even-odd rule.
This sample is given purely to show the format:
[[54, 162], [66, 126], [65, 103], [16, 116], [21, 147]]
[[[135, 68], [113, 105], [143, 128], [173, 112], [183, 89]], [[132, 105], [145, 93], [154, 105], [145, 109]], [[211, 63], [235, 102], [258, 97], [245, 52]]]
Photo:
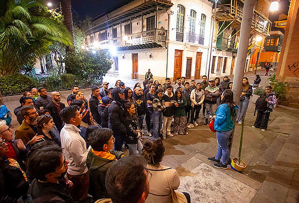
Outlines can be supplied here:
[[236, 116], [236, 110], [238, 106], [234, 107], [234, 114], [231, 116], [231, 110], [227, 103], [221, 104], [217, 111], [214, 123], [214, 129], [216, 131], [230, 131], [234, 128], [235, 123], [233, 121], [233, 116]]

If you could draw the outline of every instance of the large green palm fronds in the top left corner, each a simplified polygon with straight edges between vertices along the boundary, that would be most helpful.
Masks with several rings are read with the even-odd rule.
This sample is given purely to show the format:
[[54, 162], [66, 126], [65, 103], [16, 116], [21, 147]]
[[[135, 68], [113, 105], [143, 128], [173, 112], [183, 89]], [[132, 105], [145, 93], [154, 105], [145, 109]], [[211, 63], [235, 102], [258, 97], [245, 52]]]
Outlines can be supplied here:
[[66, 27], [51, 17], [41, 0], [4, 0], [0, 5], [0, 76], [50, 52], [58, 42], [72, 46]]

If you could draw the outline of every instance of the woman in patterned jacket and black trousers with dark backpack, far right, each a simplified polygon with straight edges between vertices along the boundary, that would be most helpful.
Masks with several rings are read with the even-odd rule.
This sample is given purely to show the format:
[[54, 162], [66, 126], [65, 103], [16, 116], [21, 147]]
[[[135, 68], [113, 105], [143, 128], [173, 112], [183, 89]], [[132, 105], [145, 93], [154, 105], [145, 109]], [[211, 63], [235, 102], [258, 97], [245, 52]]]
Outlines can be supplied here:
[[[260, 128], [261, 131], [267, 130], [270, 113], [273, 111], [273, 107], [276, 104], [276, 95], [275, 92], [272, 92], [272, 87], [267, 86], [265, 91], [266, 93], [262, 94], [256, 102], [256, 111], [258, 112], [258, 115], [252, 126], [252, 128]], [[265, 102], [263, 102], [263, 100], [265, 100]]]

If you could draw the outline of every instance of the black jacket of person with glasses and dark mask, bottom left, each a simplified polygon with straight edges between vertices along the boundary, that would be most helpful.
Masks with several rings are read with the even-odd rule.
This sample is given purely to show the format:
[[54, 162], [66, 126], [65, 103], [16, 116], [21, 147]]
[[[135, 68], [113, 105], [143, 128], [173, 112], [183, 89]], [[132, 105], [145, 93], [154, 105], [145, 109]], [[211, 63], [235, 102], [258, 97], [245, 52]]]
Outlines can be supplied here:
[[[62, 179], [64, 180], [64, 179]], [[33, 200], [36, 200], [38, 197], [43, 201], [38, 202], [47, 202], [47, 203], [75, 203], [71, 198], [68, 188], [66, 187], [65, 181], [60, 181], [59, 183], [41, 183], [34, 179], [30, 185], [28, 191]], [[47, 195], [47, 196], [46, 196]], [[53, 199], [49, 201], [46, 199]]]

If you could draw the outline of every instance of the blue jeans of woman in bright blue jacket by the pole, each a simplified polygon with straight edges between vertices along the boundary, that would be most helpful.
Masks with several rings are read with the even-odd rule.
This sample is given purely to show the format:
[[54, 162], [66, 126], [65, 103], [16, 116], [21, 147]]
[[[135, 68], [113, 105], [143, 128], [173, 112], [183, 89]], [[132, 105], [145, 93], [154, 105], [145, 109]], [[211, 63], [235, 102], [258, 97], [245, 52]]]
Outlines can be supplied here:
[[228, 138], [233, 130], [230, 131], [217, 131], [217, 143], [218, 151], [215, 159], [220, 160], [223, 165], [227, 165], [229, 162], [229, 148], [228, 148]]

